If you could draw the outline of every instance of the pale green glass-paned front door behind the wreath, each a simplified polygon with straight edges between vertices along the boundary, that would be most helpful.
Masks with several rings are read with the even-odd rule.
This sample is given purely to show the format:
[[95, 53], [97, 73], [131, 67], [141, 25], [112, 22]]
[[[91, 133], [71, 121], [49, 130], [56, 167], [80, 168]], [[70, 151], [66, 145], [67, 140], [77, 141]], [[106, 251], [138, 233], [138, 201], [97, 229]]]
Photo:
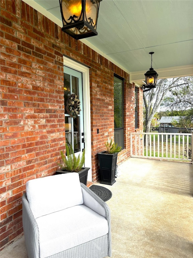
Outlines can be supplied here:
[[[66, 110], [68, 96], [72, 93], [77, 95], [81, 102], [81, 111], [76, 118], [72, 118]], [[75, 153], [82, 152], [84, 149], [82, 73], [66, 66], [64, 66], [64, 105], [66, 143], [72, 145]]]

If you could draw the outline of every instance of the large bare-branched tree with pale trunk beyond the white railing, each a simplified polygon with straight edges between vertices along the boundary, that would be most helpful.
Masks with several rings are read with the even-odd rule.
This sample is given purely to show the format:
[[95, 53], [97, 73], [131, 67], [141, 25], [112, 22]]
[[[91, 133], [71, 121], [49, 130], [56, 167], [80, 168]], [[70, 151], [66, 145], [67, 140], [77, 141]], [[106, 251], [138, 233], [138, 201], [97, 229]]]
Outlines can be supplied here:
[[[164, 100], [164, 105], [166, 106], [167, 105], [166, 103], [169, 103], [168, 96], [170, 98], [173, 98], [173, 101], [174, 101], [174, 96], [172, 95], [172, 93], [174, 93], [174, 95], [177, 97], [178, 93], [180, 92], [181, 102], [183, 101], [183, 103], [185, 103], [185, 93], [189, 92], [189, 90], [192, 89], [192, 87], [193, 87], [193, 76], [188, 76], [188, 77], [179, 77], [179, 78], [160, 79], [157, 81], [156, 88], [153, 88], [150, 91], [144, 92], [143, 100], [144, 100], [144, 106], [145, 106], [145, 132], [150, 132], [151, 120], [153, 119], [153, 116], [160, 108], [161, 104], [163, 103], [163, 100]], [[178, 90], [181, 90], [181, 91], [178, 91]], [[184, 98], [182, 96], [184, 96]], [[168, 102], [166, 101], [166, 99], [168, 100]], [[189, 102], [189, 96], [188, 96], [188, 102]], [[193, 100], [191, 103], [193, 103]]]

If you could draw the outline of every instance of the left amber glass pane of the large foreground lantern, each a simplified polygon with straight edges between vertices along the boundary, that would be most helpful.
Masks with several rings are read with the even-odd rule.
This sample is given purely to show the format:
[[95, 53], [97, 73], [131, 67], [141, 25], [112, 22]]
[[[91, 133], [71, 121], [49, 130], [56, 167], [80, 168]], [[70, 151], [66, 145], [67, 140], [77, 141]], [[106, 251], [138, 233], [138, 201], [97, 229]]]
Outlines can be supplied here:
[[[62, 12], [66, 23], [74, 23], [78, 21], [82, 12], [81, 0], [63, 0]], [[82, 19], [81, 19], [82, 20]]]

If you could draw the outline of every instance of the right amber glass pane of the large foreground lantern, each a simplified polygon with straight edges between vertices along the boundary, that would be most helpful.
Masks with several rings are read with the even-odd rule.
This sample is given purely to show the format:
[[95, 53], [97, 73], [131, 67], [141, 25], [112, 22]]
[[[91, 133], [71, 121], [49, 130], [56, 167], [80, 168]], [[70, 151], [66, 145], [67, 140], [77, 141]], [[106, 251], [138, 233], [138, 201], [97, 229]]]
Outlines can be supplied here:
[[96, 1], [86, 0], [85, 21], [92, 27], [96, 26], [98, 6]]

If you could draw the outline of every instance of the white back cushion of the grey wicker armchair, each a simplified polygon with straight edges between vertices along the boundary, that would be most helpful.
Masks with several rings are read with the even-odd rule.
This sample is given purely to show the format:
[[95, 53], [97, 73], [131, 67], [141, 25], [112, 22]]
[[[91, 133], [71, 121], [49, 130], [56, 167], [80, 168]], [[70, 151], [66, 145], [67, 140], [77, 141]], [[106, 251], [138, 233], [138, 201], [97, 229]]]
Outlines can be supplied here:
[[78, 173], [29, 180], [26, 194], [35, 218], [83, 204]]

